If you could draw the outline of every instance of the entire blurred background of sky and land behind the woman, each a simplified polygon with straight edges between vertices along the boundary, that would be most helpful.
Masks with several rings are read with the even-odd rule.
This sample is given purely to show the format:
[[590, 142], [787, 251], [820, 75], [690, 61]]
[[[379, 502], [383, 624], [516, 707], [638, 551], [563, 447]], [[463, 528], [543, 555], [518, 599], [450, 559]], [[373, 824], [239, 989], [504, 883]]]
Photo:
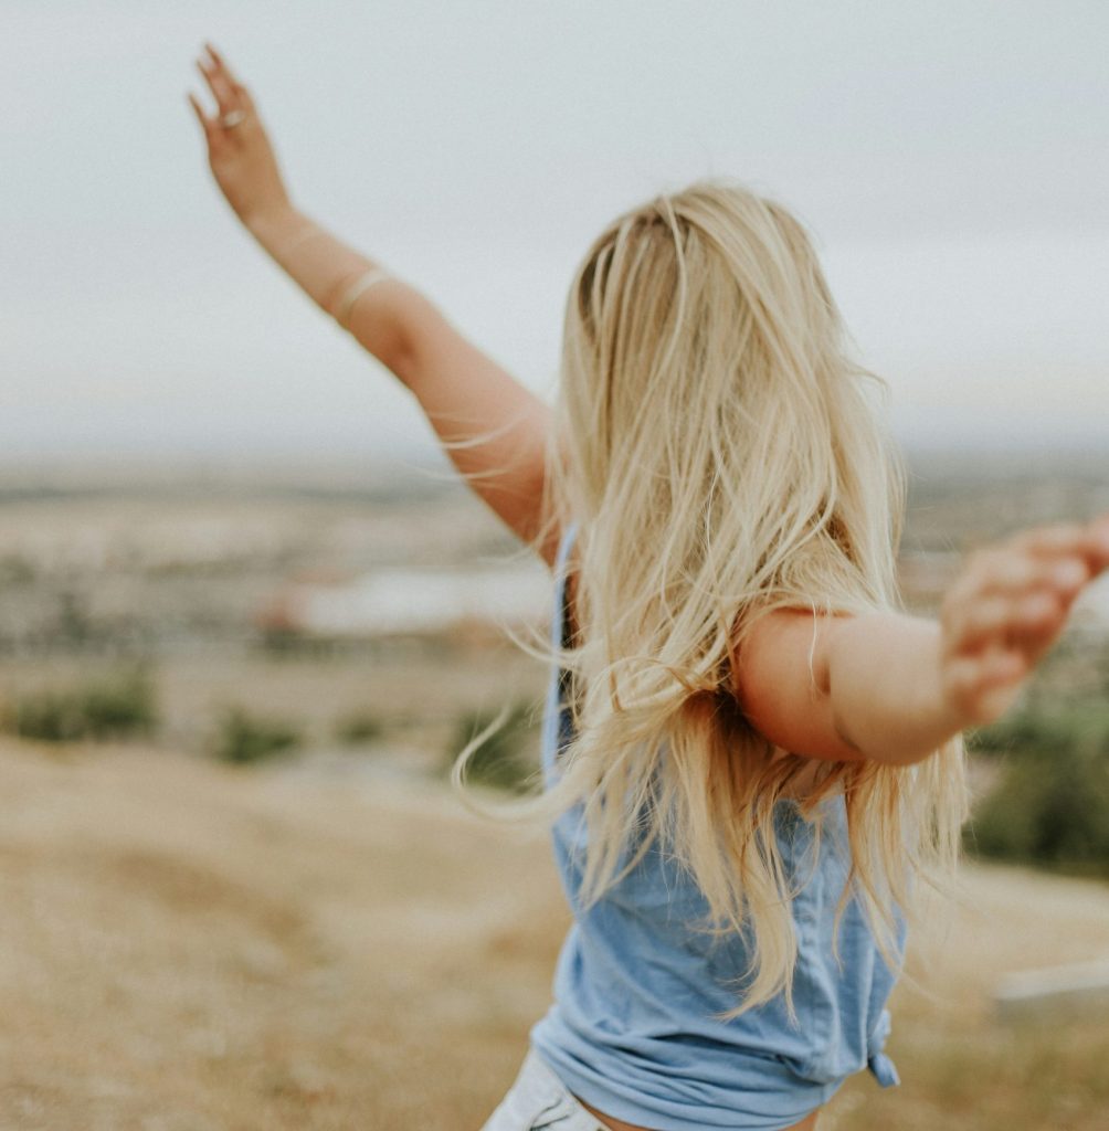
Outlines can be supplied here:
[[[1109, 510], [1103, 5], [8, 0], [0, 36], [5, 1125], [480, 1126], [567, 925], [542, 830], [445, 779], [500, 711], [475, 778], [534, 769], [547, 572], [239, 227], [206, 38], [294, 202], [544, 397], [613, 215], [712, 174], [790, 206], [889, 383], [914, 611]], [[1104, 1009], [998, 1004], [1109, 961], [1103, 582], [971, 744], [904, 1082], [831, 1129], [1104, 1126]]]

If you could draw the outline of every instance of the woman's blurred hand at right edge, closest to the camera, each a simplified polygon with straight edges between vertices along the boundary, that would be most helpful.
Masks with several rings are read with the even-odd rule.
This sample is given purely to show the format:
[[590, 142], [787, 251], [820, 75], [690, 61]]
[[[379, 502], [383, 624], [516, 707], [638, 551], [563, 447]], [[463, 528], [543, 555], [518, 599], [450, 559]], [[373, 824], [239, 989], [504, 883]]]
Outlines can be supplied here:
[[966, 726], [1008, 710], [1075, 597], [1107, 568], [1109, 515], [1037, 527], [971, 555], [940, 608], [943, 693]]

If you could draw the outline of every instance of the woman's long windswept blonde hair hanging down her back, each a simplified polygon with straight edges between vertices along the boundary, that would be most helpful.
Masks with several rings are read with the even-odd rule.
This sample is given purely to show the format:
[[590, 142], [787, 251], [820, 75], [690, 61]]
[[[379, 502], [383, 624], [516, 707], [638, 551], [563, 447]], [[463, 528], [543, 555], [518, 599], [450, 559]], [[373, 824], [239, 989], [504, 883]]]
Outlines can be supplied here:
[[[582, 805], [581, 898], [657, 845], [714, 931], [749, 931], [737, 1016], [784, 992], [797, 939], [774, 834], [793, 801], [819, 836], [845, 810], [849, 895], [886, 960], [918, 874], [949, 873], [966, 817], [963, 745], [911, 766], [776, 750], [743, 717], [734, 665], [779, 607], [901, 610], [904, 470], [852, 362], [811, 242], [781, 205], [698, 181], [613, 221], [570, 286], [544, 529], [578, 528], [578, 633], [559, 777], [516, 812]], [[461, 780], [465, 759], [456, 763]], [[637, 845], [629, 860], [627, 849]]]

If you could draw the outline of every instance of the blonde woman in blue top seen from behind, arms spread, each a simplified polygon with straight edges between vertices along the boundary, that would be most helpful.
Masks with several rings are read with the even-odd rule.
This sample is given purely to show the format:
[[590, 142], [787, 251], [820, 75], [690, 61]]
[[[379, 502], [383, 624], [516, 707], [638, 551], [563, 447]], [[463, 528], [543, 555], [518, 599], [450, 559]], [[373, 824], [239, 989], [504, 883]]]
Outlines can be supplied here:
[[217, 113], [189, 97], [229, 204], [554, 572], [524, 809], [575, 923], [487, 1131], [811, 1131], [850, 1074], [895, 1083], [885, 1004], [914, 890], [955, 864], [961, 734], [1109, 564], [1109, 516], [979, 552], [938, 621], [906, 615], [902, 472], [790, 213], [711, 181], [614, 219], [551, 411], [293, 207], [207, 50]]

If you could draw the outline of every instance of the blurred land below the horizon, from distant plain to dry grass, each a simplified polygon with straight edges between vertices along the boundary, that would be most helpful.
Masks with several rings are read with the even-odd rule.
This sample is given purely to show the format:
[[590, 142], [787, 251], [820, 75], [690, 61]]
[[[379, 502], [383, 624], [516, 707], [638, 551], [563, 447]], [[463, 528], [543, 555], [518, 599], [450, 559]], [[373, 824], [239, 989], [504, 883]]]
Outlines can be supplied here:
[[[901, 572], [1109, 511], [1109, 457], [917, 455]], [[0, 1126], [476, 1129], [549, 1002], [542, 831], [468, 813], [538, 757], [547, 570], [439, 464], [0, 467]], [[1109, 958], [1109, 588], [971, 735], [965, 891], [828, 1128], [1095, 1129], [1109, 1021], [999, 975]], [[1032, 869], [1035, 869], [1034, 871]], [[822, 1124], [823, 1126], [823, 1124]]]

